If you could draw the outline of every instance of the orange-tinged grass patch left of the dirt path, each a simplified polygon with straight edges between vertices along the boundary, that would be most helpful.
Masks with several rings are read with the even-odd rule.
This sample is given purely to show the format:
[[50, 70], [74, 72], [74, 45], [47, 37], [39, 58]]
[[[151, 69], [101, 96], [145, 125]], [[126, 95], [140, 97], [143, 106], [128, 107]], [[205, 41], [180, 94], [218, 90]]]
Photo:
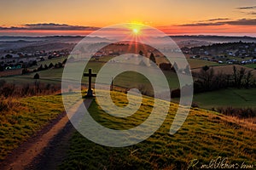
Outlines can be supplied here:
[[0, 160], [64, 111], [61, 95], [1, 99], [0, 105], [8, 108], [0, 114]]

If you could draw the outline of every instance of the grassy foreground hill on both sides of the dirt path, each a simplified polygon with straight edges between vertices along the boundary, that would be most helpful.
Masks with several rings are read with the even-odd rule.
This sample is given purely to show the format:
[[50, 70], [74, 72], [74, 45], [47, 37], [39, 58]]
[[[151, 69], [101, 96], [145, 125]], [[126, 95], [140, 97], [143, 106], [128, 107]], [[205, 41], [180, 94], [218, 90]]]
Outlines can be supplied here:
[[[65, 95], [73, 99], [73, 94]], [[131, 97], [133, 98], [136, 97]], [[126, 95], [119, 92], [112, 92], [112, 99], [119, 106], [127, 105], [128, 102]], [[61, 95], [5, 99], [1, 100], [0, 105], [1, 160], [64, 111]], [[126, 118], [106, 114], [95, 100], [89, 110], [96, 122], [103, 126], [126, 129], [146, 120], [153, 105], [154, 99], [143, 96], [140, 109], [136, 114]], [[102, 146], [76, 132], [70, 140], [68, 156], [59, 168], [186, 169], [189, 162], [194, 159], [199, 161], [196, 166], [201, 167], [218, 156], [227, 157], [230, 162], [239, 165], [243, 162], [255, 164], [255, 124], [194, 108], [183, 127], [174, 135], [170, 135], [169, 129], [176, 111], [177, 104], [171, 103], [169, 114], [160, 129], [142, 143], [129, 147]]]

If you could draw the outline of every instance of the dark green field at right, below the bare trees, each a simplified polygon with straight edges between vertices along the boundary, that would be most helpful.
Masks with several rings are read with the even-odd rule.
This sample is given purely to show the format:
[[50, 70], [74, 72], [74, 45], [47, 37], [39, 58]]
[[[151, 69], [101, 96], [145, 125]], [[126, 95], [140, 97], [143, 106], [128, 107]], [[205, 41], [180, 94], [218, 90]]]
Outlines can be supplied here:
[[193, 102], [205, 109], [212, 109], [221, 106], [232, 106], [236, 108], [256, 107], [255, 94], [256, 88], [227, 88], [213, 92], [195, 94]]

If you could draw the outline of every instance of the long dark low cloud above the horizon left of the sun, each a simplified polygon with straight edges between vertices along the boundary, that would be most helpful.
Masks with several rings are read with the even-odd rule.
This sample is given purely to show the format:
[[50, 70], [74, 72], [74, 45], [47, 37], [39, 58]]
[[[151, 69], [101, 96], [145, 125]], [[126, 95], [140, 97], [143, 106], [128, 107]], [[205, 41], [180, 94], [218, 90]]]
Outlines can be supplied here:
[[55, 24], [55, 23], [39, 23], [39, 24], [25, 24], [22, 26], [0, 26], [0, 30], [3, 31], [32, 31], [32, 30], [45, 30], [45, 31], [95, 31], [98, 27], [93, 26], [70, 26], [67, 24]]

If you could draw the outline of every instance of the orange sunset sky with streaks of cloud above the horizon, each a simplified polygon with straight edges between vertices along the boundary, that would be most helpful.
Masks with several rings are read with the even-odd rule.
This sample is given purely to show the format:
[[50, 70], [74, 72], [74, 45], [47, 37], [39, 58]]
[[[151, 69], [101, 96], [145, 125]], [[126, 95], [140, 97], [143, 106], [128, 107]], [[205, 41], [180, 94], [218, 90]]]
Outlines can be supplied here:
[[256, 37], [256, 0], [1, 0], [0, 35], [83, 35], [139, 22], [170, 35]]

